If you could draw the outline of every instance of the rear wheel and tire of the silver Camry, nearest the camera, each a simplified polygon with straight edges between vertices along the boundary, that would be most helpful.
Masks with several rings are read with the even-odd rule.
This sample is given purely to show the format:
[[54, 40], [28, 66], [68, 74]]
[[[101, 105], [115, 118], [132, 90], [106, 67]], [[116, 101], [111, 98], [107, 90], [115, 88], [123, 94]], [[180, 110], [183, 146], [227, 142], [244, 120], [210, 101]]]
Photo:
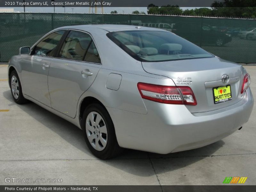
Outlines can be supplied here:
[[99, 103], [92, 103], [84, 110], [82, 129], [85, 142], [94, 156], [109, 159], [122, 152], [111, 117]]

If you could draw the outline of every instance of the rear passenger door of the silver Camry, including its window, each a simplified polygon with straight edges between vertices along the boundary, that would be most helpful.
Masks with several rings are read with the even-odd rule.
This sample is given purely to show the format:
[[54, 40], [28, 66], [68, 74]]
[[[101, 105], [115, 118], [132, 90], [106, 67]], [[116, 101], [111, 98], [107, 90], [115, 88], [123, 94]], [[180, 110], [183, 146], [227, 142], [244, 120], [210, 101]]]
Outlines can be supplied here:
[[58, 52], [48, 74], [51, 105], [74, 118], [80, 96], [91, 86], [101, 67], [100, 56], [92, 37], [77, 30], [69, 31]]

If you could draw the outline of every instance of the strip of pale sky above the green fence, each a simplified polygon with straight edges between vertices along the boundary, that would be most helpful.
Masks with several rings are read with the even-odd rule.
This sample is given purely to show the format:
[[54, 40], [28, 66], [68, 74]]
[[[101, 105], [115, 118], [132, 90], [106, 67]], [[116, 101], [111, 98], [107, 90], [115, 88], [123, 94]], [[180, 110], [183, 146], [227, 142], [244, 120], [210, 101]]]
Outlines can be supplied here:
[[[0, 7], [0, 8], [14, 8], [14, 11], [24, 11], [23, 7]], [[89, 7], [65, 7], [65, 12], [66, 13], [89, 13]], [[181, 9], [195, 9], [199, 7], [180, 7]], [[39, 12], [39, 13], [53, 13], [53, 7], [25, 7], [26, 12]], [[104, 7], [103, 12], [104, 13], [110, 13], [111, 11], [117, 11], [118, 13], [121, 14], [130, 14], [133, 11], [139, 11], [139, 12], [145, 12], [147, 13], [147, 7]], [[91, 8], [92, 11], [92, 8]], [[56, 13], [64, 13], [64, 8], [63, 7], [55, 7], [55, 12]], [[95, 12], [93, 8], [93, 12]], [[97, 13], [101, 13], [101, 7], [98, 7]]]

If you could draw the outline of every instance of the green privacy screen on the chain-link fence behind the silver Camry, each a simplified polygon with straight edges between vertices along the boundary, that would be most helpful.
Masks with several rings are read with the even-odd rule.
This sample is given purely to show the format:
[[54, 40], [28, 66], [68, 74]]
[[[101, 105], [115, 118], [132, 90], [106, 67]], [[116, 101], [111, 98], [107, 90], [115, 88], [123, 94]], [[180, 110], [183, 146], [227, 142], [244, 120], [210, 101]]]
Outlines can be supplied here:
[[163, 28], [218, 57], [256, 63], [256, 20], [163, 15], [1, 13], [0, 61], [22, 46], [33, 45], [54, 28], [68, 25], [117, 24]]

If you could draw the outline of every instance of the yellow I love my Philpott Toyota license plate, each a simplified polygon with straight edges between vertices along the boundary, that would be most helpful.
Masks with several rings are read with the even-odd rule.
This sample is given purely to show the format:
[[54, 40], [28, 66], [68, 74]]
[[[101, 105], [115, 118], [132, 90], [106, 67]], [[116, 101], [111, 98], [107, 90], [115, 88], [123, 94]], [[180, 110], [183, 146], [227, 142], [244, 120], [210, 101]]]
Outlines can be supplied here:
[[230, 85], [214, 87], [212, 88], [212, 91], [214, 104], [222, 103], [232, 99]]

